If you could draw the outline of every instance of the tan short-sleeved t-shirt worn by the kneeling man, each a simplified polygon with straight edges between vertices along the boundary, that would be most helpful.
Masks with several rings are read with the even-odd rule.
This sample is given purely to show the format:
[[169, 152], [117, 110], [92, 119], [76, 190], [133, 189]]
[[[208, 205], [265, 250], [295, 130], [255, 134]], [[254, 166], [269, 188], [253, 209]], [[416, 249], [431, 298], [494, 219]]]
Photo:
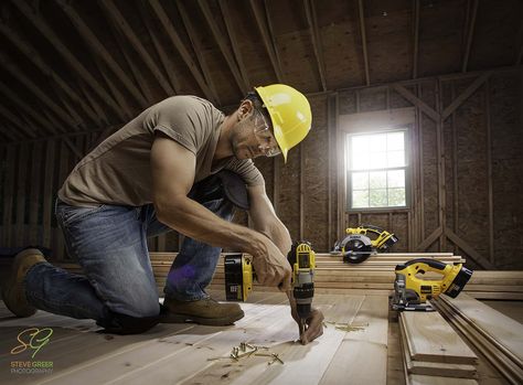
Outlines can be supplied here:
[[264, 178], [252, 160], [232, 157], [212, 169], [223, 120], [223, 113], [202, 98], [173, 96], [164, 99], [82, 159], [65, 180], [58, 197], [76, 206], [151, 203], [150, 156], [156, 131], [166, 133], [195, 154], [194, 182], [227, 169], [243, 177], [247, 185], [264, 184]]

